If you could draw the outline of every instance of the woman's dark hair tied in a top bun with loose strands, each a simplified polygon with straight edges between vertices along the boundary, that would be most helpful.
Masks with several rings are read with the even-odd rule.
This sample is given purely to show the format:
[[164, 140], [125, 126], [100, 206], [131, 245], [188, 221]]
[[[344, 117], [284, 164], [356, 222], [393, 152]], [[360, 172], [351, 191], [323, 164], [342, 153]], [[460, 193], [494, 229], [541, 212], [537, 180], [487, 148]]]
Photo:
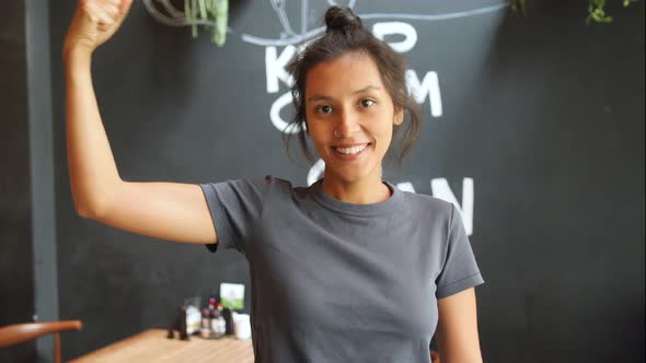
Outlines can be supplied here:
[[[305, 113], [305, 80], [308, 72], [322, 61], [333, 60], [347, 52], [369, 55], [377, 63], [381, 80], [388, 90], [395, 108], [402, 108], [408, 114], [409, 120], [395, 128], [395, 133], [404, 127], [403, 145], [399, 162], [408, 154], [417, 137], [422, 117], [417, 103], [408, 95], [406, 87], [406, 62], [404, 57], [393, 50], [387, 43], [374, 37], [359, 16], [349, 8], [332, 7], [325, 12], [325, 35], [309, 44], [304, 50], [296, 56], [287, 66], [287, 71], [293, 78], [291, 95], [296, 114], [287, 125], [286, 131], [296, 131], [300, 147], [309, 161], [314, 161], [305, 140], [303, 125], [307, 125]], [[284, 133], [284, 140], [289, 154], [289, 140], [292, 133]], [[394, 140], [394, 137], [393, 137]]]

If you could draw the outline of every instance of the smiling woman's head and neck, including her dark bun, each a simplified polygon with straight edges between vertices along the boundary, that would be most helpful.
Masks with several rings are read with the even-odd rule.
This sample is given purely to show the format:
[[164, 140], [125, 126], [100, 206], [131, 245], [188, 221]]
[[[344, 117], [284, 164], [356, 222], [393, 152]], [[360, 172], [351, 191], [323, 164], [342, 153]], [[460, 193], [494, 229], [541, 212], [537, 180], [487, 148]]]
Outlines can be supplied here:
[[[347, 8], [331, 8], [325, 23], [325, 35], [288, 66], [297, 109], [288, 129], [307, 130], [298, 133], [303, 153], [312, 159], [307, 133], [324, 161], [323, 190], [356, 203], [383, 201], [390, 192], [381, 183], [382, 160], [406, 112], [400, 161], [419, 133], [405, 62]], [[287, 141], [292, 133], [285, 133]]]

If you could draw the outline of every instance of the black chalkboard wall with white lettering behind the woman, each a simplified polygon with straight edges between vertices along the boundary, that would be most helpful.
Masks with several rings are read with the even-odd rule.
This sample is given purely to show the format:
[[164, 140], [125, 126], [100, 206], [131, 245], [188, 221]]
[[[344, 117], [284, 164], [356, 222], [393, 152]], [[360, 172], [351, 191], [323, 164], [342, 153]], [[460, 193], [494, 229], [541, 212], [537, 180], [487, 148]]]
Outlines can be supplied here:
[[[285, 1], [287, 24], [272, 1], [231, 1], [218, 48], [137, 1], [93, 59], [123, 178], [273, 174], [307, 185], [310, 166], [281, 141], [291, 115], [281, 65], [330, 2]], [[346, 3], [409, 59], [423, 131], [384, 177], [460, 207], [487, 281], [477, 289], [485, 362], [643, 362], [644, 2], [590, 26], [574, 1], [534, 3], [526, 19], [500, 1]], [[220, 282], [250, 283], [237, 251], [76, 215], [59, 57], [73, 7], [50, 9], [60, 316], [85, 327], [64, 340], [67, 359], [164, 327], [184, 297]]]

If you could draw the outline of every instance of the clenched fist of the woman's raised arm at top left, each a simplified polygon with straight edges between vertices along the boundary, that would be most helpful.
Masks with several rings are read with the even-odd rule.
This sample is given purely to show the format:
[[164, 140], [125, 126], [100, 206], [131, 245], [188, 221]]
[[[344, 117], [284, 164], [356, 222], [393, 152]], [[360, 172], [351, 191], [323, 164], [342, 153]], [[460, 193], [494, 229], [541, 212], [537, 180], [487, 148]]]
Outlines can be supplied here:
[[119, 28], [131, 4], [132, 0], [79, 0], [64, 54], [72, 49], [94, 51]]

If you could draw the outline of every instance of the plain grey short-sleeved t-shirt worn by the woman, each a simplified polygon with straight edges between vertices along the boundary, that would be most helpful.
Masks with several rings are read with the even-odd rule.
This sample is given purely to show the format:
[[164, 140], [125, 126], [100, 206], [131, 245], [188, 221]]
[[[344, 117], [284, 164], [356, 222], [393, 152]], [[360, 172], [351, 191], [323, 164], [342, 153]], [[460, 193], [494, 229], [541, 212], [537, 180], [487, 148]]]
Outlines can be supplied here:
[[219, 243], [251, 271], [256, 362], [430, 362], [437, 298], [484, 282], [457, 209], [390, 183], [383, 202], [319, 180], [201, 184]]

